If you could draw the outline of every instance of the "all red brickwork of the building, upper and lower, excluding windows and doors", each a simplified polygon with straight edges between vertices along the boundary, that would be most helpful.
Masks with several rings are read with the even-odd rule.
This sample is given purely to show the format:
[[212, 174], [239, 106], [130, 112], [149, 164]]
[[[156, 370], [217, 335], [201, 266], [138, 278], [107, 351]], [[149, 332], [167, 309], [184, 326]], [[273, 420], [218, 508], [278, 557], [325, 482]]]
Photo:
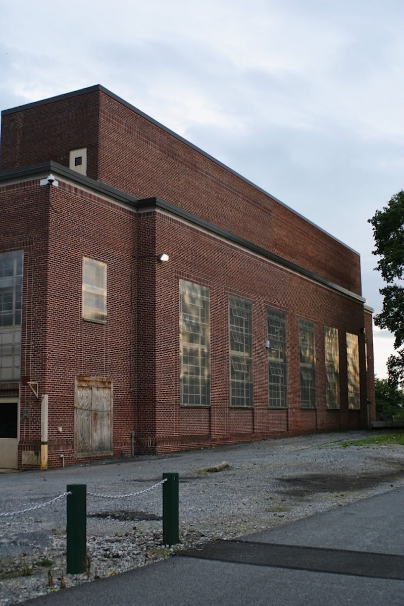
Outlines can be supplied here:
[[[68, 165], [87, 147], [88, 176], [136, 198], [159, 196], [222, 230], [360, 295], [360, 259], [351, 249], [254, 188], [104, 90], [35, 105], [2, 118], [3, 170], [41, 161]], [[11, 173], [10, 173], [11, 174]], [[49, 464], [78, 461], [75, 376], [113, 379], [114, 454], [204, 445], [338, 428], [374, 418], [371, 314], [363, 302], [269, 262], [168, 212], [136, 208], [58, 176], [0, 187], [0, 252], [24, 250], [22, 376], [49, 396]], [[156, 264], [157, 253], [170, 261]], [[106, 324], [81, 318], [82, 256], [108, 266]], [[179, 281], [210, 290], [211, 406], [180, 406]], [[232, 409], [228, 297], [253, 306], [254, 407]], [[268, 408], [267, 307], [287, 319], [288, 408]], [[316, 329], [316, 410], [301, 410], [299, 318]], [[325, 404], [324, 326], [339, 330], [340, 410]], [[366, 329], [366, 335], [361, 331]], [[359, 335], [361, 410], [348, 410], [346, 332]], [[365, 339], [368, 371], [365, 370]], [[369, 407], [367, 401], [370, 402]], [[28, 410], [27, 419], [22, 418]], [[21, 386], [22, 451], [39, 450], [41, 405]], [[62, 433], [58, 428], [62, 427]], [[82, 459], [79, 459], [82, 460]], [[25, 467], [30, 465], [26, 464]]]

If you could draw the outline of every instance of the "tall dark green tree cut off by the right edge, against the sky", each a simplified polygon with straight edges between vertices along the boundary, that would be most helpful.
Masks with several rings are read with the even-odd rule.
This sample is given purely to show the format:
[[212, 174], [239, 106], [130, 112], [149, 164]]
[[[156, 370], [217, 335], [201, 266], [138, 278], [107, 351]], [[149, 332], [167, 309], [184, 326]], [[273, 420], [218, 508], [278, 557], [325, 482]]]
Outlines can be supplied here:
[[379, 255], [376, 269], [382, 274], [386, 286], [381, 313], [374, 323], [394, 333], [396, 355], [387, 361], [389, 381], [404, 386], [404, 191], [399, 191], [382, 210], [369, 219], [373, 225], [376, 248]]

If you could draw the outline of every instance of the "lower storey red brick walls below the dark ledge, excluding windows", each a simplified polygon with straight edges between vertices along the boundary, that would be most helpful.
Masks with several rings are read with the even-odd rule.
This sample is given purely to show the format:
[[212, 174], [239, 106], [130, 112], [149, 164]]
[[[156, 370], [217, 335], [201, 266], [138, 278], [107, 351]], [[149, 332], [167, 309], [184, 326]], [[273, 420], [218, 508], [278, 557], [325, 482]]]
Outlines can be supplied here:
[[[48, 394], [50, 466], [61, 465], [60, 454], [66, 464], [75, 462], [76, 375], [113, 379], [115, 455], [130, 454], [132, 429], [137, 451], [164, 452], [363, 425], [359, 411], [348, 410], [346, 397], [345, 333], [360, 335], [360, 302], [164, 213], [136, 215], [62, 180], [58, 188], [40, 187], [35, 180], [0, 193], [1, 250], [24, 248], [22, 374], [39, 381], [40, 393]], [[162, 252], [170, 261], [156, 264], [155, 255]], [[108, 265], [105, 325], [81, 318], [83, 255]], [[210, 408], [180, 406], [180, 279], [210, 289]], [[254, 408], [248, 410], [229, 404], [230, 295], [253, 304]], [[268, 306], [287, 315], [288, 410], [268, 408]], [[316, 411], [300, 410], [299, 317], [316, 326]], [[340, 411], [325, 406], [325, 324], [339, 328]], [[371, 342], [367, 325], [366, 331]], [[361, 340], [360, 360], [363, 371]], [[21, 411], [26, 407], [30, 415], [21, 419], [20, 461], [21, 451], [40, 447], [40, 401], [22, 387]]]

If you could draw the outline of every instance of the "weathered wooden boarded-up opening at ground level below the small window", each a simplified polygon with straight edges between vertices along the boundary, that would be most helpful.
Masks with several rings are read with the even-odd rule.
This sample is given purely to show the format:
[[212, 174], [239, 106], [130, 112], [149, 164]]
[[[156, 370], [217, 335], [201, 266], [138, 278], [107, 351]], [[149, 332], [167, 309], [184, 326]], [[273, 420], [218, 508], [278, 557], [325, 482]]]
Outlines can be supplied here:
[[113, 453], [113, 381], [98, 377], [75, 379], [75, 453]]

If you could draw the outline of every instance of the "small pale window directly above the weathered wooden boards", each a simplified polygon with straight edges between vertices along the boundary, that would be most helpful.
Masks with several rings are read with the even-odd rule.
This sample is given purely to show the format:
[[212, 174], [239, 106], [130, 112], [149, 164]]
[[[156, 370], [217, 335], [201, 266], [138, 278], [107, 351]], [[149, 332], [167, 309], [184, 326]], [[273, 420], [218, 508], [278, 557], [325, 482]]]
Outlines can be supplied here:
[[83, 257], [82, 318], [107, 321], [107, 264]]

